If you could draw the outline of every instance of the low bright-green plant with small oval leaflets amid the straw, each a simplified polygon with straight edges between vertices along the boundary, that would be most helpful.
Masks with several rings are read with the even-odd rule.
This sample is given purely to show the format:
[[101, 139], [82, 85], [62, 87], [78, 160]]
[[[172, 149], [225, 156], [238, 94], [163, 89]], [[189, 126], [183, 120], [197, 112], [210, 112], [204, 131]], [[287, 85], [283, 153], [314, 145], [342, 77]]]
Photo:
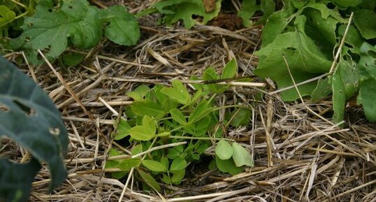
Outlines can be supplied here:
[[[232, 59], [224, 66], [221, 76], [214, 68], [207, 68], [203, 80], [233, 78], [237, 68], [236, 60]], [[150, 89], [140, 85], [127, 93], [134, 101], [126, 109], [127, 120], [122, 118], [117, 124], [115, 140], [126, 138], [129, 145], [133, 145], [132, 156], [136, 157], [108, 161], [107, 168], [119, 168], [121, 171], [113, 173], [115, 178], [124, 177], [136, 167], [140, 178], [156, 190], [160, 190], [156, 178], [166, 184], [178, 185], [185, 177], [187, 166], [201, 161], [211, 145], [217, 145], [215, 160], [210, 165], [212, 168], [217, 166], [224, 173], [236, 174], [245, 166], [253, 166], [250, 152], [240, 144], [230, 144], [231, 140], [222, 138], [228, 127], [239, 127], [249, 122], [249, 107], [215, 107], [216, 97], [229, 89], [227, 85], [193, 86], [193, 95], [179, 80], [173, 80], [172, 87], [155, 85]], [[219, 110], [226, 110], [227, 115], [222, 122], [219, 121]], [[145, 157], [137, 155], [151, 147], [182, 141], [187, 141], [187, 144], [155, 150]], [[115, 149], [110, 151], [110, 156], [119, 154]]]

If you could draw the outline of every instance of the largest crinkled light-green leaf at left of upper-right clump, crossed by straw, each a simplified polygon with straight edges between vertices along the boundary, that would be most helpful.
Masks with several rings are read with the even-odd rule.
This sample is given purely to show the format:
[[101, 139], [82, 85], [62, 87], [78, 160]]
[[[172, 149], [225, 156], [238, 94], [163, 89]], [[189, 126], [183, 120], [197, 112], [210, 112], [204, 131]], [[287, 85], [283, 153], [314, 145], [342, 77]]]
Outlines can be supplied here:
[[[259, 66], [254, 71], [256, 75], [271, 78], [282, 88], [294, 85], [288, 67], [296, 83], [329, 70], [332, 62], [305, 34], [305, 20], [303, 15], [296, 17], [296, 31], [278, 35], [273, 43], [256, 52], [260, 57]], [[317, 82], [310, 82], [298, 86], [298, 89], [302, 96], [307, 96], [312, 94], [316, 85]], [[284, 101], [293, 101], [298, 99], [298, 93], [293, 88], [282, 92], [281, 97]]]

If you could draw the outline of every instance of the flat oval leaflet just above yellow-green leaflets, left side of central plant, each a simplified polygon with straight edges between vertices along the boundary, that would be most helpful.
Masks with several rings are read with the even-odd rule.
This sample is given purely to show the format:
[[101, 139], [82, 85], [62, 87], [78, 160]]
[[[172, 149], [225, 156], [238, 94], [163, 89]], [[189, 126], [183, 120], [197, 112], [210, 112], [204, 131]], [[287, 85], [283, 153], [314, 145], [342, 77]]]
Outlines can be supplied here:
[[144, 115], [150, 117], [164, 115], [164, 110], [161, 109], [161, 106], [151, 100], [133, 101], [131, 109], [133, 113], [140, 117], [143, 117]]

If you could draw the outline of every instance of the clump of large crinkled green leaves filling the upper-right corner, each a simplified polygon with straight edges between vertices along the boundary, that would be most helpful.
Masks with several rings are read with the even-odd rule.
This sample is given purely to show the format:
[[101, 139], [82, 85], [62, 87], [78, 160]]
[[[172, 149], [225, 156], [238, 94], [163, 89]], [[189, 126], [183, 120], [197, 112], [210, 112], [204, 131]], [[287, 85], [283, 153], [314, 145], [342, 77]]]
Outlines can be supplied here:
[[[289, 87], [328, 73], [334, 53], [343, 38], [350, 13], [345, 45], [335, 71], [328, 77], [298, 86], [301, 96], [312, 101], [332, 94], [333, 121], [344, 119], [347, 99], [358, 94], [366, 117], [376, 121], [376, 1], [286, 0], [284, 8], [270, 15], [262, 34], [259, 64], [254, 71], [261, 78], [271, 78], [279, 88]], [[366, 65], [367, 64], [367, 65]], [[299, 98], [295, 88], [281, 93], [284, 101]]]

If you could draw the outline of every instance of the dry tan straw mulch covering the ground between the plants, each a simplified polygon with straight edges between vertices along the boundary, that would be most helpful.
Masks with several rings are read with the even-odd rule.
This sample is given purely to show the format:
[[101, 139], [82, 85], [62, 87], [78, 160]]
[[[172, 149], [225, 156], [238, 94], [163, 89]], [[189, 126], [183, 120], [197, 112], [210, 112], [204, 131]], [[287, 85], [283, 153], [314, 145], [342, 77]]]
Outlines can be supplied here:
[[[126, 4], [136, 13], [150, 2]], [[64, 84], [48, 65], [21, 66], [61, 110], [70, 140], [68, 179], [48, 194], [48, 169], [43, 168], [30, 201], [119, 201], [120, 197], [122, 201], [376, 201], [376, 125], [349, 103], [344, 127], [338, 127], [330, 120], [330, 98], [286, 103], [273, 94], [276, 88], [270, 80], [264, 88], [233, 85], [217, 101], [252, 106], [247, 127], [232, 128], [227, 138], [252, 152], [253, 168], [231, 176], [197, 165], [182, 185], [162, 185], [161, 195], [143, 192], [136, 179], [124, 189], [125, 180], [110, 178], [103, 164], [110, 147], [122, 148], [110, 135], [115, 115], [131, 103], [126, 92], [140, 84], [188, 80], [190, 75], [202, 75], [208, 66], [220, 72], [232, 57], [238, 61], [238, 75], [253, 75], [257, 64], [252, 53], [259, 46], [262, 27], [229, 31], [197, 25], [186, 30], [180, 24], [159, 27], [157, 17], [140, 19], [142, 38], [134, 47], [103, 40], [83, 52], [86, 59], [80, 66], [52, 64]], [[7, 55], [10, 60], [16, 57], [22, 55]], [[254, 82], [263, 81], [255, 78]]]

